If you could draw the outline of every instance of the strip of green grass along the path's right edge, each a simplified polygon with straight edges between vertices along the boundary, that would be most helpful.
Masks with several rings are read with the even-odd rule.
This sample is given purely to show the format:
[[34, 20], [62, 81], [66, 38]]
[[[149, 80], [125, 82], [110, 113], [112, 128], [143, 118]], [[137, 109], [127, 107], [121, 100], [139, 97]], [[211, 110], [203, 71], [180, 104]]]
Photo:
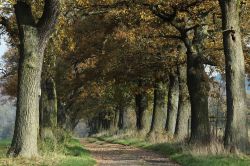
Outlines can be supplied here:
[[183, 166], [249, 166], [250, 158], [248, 156], [233, 155], [192, 155], [190, 152], [183, 150], [178, 144], [160, 143], [151, 144], [143, 139], [116, 139], [109, 136], [96, 137], [97, 140], [130, 145], [168, 156], [173, 161]]

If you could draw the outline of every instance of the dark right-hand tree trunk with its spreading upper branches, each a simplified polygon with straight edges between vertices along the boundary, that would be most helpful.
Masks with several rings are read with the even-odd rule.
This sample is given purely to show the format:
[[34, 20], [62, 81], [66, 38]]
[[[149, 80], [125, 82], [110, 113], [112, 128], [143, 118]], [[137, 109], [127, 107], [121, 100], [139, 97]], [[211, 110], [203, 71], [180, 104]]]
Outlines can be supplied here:
[[[188, 10], [188, 7], [185, 7], [185, 5], [183, 7]], [[192, 110], [190, 143], [206, 145], [210, 142], [208, 119], [209, 82], [204, 70], [204, 64], [211, 63], [211, 61], [203, 55], [203, 43], [207, 37], [207, 26], [204, 26], [206, 24], [203, 24], [203, 22], [209, 12], [201, 15], [201, 23], [190, 27], [190, 25], [183, 25], [185, 23], [177, 19], [178, 11], [174, 8], [170, 13], [162, 11], [158, 6], [151, 6], [150, 9], [153, 14], [170, 23], [180, 32], [180, 36], [173, 37], [182, 40], [187, 48], [187, 82]], [[194, 31], [194, 35], [189, 35], [191, 31]]]

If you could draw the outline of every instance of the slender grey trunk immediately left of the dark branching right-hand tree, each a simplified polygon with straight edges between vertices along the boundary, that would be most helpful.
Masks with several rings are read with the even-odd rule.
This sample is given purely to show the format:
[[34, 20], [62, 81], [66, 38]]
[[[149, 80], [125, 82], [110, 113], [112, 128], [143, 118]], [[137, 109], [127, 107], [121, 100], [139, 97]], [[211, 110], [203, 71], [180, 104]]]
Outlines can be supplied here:
[[188, 136], [188, 119], [190, 116], [190, 100], [187, 87], [187, 66], [178, 65], [179, 77], [179, 106], [175, 129], [175, 137], [178, 141], [184, 141]]

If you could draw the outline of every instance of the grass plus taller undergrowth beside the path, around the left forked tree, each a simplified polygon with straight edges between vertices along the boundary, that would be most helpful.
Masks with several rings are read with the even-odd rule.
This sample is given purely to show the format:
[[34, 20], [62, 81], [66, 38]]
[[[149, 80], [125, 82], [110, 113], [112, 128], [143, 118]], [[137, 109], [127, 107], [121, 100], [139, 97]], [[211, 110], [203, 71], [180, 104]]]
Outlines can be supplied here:
[[46, 138], [39, 140], [39, 157], [8, 158], [6, 152], [10, 140], [0, 140], [0, 165], [1, 166], [93, 166], [95, 160], [89, 151], [85, 150], [78, 139], [71, 134], [56, 132], [56, 139]]

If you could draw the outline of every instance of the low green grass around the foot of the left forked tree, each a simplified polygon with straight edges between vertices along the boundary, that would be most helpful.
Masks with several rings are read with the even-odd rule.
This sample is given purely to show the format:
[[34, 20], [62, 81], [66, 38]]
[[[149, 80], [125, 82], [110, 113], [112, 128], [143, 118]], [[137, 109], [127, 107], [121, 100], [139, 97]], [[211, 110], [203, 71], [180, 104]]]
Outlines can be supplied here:
[[38, 158], [7, 158], [6, 152], [10, 146], [10, 140], [0, 141], [0, 165], [17, 166], [93, 166], [95, 160], [89, 151], [85, 150], [79, 140], [70, 139], [61, 145], [63, 150], [47, 152]]

